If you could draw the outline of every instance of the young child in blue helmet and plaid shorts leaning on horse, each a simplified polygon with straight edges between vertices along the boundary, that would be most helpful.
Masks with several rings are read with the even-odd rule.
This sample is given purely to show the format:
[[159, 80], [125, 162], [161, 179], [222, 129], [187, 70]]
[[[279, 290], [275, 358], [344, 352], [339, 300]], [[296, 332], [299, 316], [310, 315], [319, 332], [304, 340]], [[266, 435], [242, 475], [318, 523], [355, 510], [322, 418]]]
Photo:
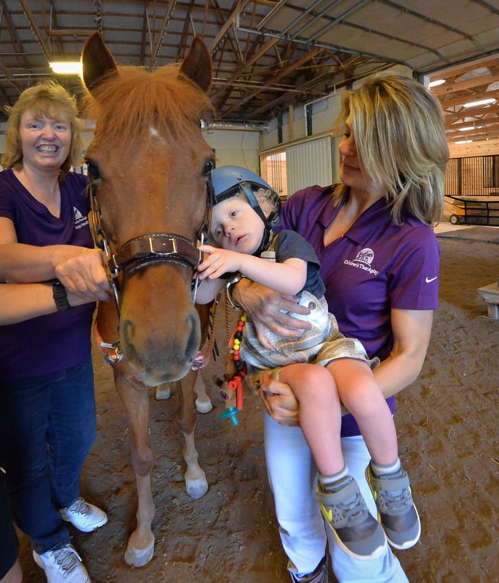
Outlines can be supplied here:
[[[292, 314], [311, 324], [298, 340], [267, 331], [272, 349], [259, 342], [253, 324], [246, 322], [241, 359], [251, 372], [270, 370], [299, 401], [301, 429], [319, 473], [318, 502], [340, 547], [364, 559], [384, 552], [386, 538], [397, 549], [412, 547], [421, 525], [398, 457], [393, 418], [371, 370], [378, 359], [369, 359], [358, 340], [338, 331], [310, 244], [294, 231], [273, 234], [279, 195], [240, 167], [220, 167], [211, 180], [215, 206], [210, 231], [217, 247], [201, 246], [207, 257], [198, 266], [202, 281], [196, 301], [209, 302], [224, 286], [224, 274], [240, 272], [279, 294], [298, 296], [299, 304], [310, 309], [309, 316]], [[366, 477], [386, 538], [343, 461], [342, 404], [356, 418], [371, 453]]]

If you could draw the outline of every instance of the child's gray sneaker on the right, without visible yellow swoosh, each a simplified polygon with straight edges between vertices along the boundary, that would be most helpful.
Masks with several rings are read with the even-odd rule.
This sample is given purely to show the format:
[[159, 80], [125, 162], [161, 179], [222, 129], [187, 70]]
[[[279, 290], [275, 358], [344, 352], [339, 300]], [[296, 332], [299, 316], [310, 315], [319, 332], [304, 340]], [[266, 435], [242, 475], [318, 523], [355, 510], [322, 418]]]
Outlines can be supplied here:
[[395, 549], [410, 549], [421, 536], [421, 522], [411, 494], [409, 478], [402, 468], [393, 474], [374, 475], [371, 464], [366, 479], [373, 492], [378, 519], [388, 543]]

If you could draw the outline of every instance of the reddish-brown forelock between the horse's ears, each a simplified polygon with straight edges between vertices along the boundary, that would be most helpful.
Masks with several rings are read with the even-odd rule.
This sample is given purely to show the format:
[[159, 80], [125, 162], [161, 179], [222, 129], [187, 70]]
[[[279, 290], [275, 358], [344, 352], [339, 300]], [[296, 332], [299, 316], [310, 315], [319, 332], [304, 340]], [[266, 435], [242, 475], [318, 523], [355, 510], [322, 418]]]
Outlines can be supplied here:
[[183, 135], [192, 131], [211, 104], [204, 91], [183, 75], [177, 64], [149, 72], [141, 67], [118, 67], [102, 83], [87, 91], [82, 105], [89, 119], [98, 119], [106, 139], [137, 136], [140, 128]]

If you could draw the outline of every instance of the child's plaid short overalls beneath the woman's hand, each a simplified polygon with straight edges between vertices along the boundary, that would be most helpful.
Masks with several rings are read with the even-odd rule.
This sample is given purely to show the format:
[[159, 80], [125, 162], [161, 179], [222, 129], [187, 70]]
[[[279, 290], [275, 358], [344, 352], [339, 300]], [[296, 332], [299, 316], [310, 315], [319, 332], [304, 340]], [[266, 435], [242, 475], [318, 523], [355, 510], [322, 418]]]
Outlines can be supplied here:
[[309, 322], [312, 328], [303, 332], [297, 340], [283, 338], [267, 329], [267, 340], [275, 350], [265, 348], [257, 338], [253, 323], [246, 322], [241, 358], [246, 363], [248, 372], [257, 372], [255, 369], [267, 370], [272, 371], [270, 376], [277, 376], [279, 370], [288, 364], [307, 362], [326, 366], [330, 361], [339, 358], [363, 360], [371, 368], [380, 364], [378, 358], [369, 359], [359, 340], [347, 338], [340, 333], [336, 318], [327, 309], [325, 298], [319, 299], [310, 292], [302, 292], [299, 304], [308, 307], [310, 314], [301, 316], [290, 313], [290, 316]]

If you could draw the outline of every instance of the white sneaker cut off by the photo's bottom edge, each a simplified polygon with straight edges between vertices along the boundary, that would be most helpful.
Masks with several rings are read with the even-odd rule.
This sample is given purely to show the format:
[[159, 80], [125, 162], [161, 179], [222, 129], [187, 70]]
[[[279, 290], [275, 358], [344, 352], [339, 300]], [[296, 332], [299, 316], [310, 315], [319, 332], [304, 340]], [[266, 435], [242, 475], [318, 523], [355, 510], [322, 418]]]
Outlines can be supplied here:
[[33, 551], [34, 562], [45, 571], [47, 583], [91, 583], [90, 575], [82, 564], [82, 558], [69, 543], [39, 555]]

